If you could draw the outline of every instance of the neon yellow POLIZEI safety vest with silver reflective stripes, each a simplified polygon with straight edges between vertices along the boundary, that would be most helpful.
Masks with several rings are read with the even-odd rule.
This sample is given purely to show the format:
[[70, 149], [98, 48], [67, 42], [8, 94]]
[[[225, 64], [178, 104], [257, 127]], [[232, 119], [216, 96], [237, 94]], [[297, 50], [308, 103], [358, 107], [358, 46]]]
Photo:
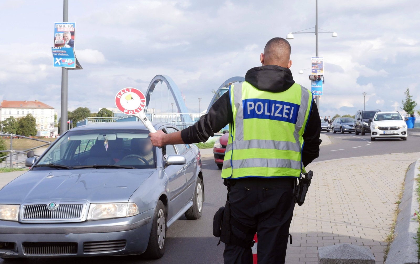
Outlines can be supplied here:
[[231, 85], [229, 93], [234, 121], [222, 178], [299, 177], [312, 93], [296, 83], [274, 93], [248, 82]]

